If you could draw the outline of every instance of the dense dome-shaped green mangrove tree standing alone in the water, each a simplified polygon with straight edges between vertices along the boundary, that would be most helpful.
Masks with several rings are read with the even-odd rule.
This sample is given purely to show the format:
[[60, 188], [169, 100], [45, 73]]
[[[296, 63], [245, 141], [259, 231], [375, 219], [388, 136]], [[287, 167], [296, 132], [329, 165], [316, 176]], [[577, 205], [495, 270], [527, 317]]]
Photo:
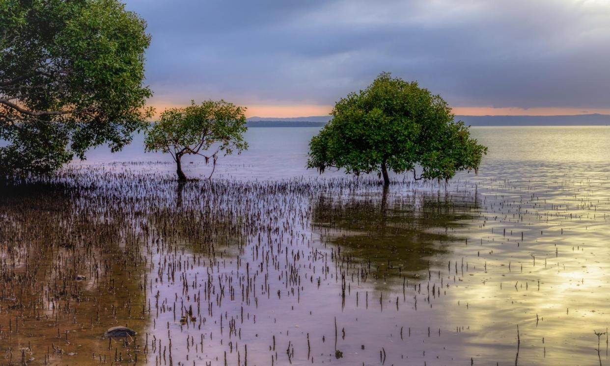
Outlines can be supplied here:
[[[445, 100], [389, 73], [340, 99], [331, 114], [309, 143], [307, 167], [320, 173], [328, 167], [356, 175], [391, 169], [448, 180], [456, 171], [476, 171], [487, 153], [463, 122], [454, 121]], [[423, 170], [419, 177], [416, 166]]]

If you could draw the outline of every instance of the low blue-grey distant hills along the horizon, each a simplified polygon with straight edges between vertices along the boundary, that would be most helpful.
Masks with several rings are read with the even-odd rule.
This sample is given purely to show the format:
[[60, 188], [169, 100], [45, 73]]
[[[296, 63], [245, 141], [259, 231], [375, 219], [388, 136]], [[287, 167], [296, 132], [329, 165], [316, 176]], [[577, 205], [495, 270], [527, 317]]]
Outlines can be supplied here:
[[[292, 118], [248, 118], [248, 127], [320, 127], [331, 116]], [[610, 114], [578, 114], [575, 116], [456, 116], [456, 121], [471, 126], [585, 126], [610, 125]]]

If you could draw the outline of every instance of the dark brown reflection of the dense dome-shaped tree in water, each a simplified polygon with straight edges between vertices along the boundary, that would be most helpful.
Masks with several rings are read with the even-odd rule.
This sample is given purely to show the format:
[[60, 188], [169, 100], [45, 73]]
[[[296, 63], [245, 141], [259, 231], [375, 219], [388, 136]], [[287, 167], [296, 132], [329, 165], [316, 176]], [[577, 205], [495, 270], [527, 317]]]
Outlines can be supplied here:
[[336, 245], [342, 262], [359, 264], [357, 273], [373, 277], [415, 273], [431, 258], [447, 253], [454, 228], [475, 215], [475, 197], [417, 192], [381, 197], [320, 196], [313, 225], [323, 241]]

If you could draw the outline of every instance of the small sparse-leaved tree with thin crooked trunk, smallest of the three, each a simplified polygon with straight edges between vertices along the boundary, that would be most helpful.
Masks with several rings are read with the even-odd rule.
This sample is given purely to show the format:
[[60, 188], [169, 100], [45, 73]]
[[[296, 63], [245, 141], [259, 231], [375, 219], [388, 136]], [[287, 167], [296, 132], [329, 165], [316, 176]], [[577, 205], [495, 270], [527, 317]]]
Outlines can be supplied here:
[[188, 107], [165, 110], [146, 132], [146, 151], [170, 153], [179, 180], [186, 180], [181, 162], [184, 155], [201, 155], [206, 163], [212, 160], [215, 168], [219, 153], [230, 155], [248, 149], [243, 139], [248, 129], [245, 111], [245, 107], [224, 100], [206, 100], [199, 105], [192, 100]]

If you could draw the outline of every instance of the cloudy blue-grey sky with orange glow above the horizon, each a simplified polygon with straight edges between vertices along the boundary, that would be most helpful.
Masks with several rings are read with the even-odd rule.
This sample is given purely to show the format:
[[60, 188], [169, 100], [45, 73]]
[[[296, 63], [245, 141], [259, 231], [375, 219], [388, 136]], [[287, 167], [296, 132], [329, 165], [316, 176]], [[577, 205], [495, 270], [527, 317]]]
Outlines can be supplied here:
[[124, 0], [157, 110], [328, 114], [383, 71], [456, 114], [610, 114], [610, 0]]

